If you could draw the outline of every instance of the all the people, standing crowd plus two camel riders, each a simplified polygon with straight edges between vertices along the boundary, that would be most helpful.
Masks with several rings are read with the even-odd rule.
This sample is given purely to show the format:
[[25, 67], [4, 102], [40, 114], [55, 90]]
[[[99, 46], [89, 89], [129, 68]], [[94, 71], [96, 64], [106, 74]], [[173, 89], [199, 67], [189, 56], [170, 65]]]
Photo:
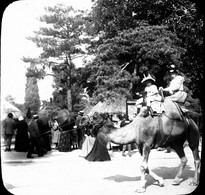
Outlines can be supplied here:
[[[157, 89], [155, 78], [150, 74], [144, 77], [142, 84], [145, 84], [146, 106], [151, 114], [152, 112], [162, 112], [159, 102], [163, 101], [163, 96], [159, 92], [169, 92], [169, 98], [172, 101], [184, 103], [187, 93], [183, 90], [184, 77], [179, 75], [176, 69], [170, 70], [172, 80], [167, 88], [160, 87]], [[144, 103], [144, 98], [140, 98], [136, 102], [136, 106]], [[157, 103], [157, 104], [156, 104]], [[117, 115], [117, 121], [113, 124], [117, 128], [127, 125], [125, 115]], [[39, 157], [44, 156], [51, 149], [59, 151], [70, 151], [71, 146], [82, 150], [80, 156], [89, 161], [104, 161], [110, 160], [108, 153], [108, 143], [106, 141], [103, 128], [101, 126], [92, 126], [88, 122], [89, 119], [84, 115], [83, 111], [79, 111], [78, 116], [69, 119], [68, 124], [63, 125], [65, 131], [59, 126], [57, 119], [51, 117], [44, 124], [38, 115], [34, 114], [31, 118], [20, 116], [18, 120], [13, 119], [13, 114], [9, 113], [3, 121], [3, 133], [5, 140], [5, 151], [11, 151], [12, 138], [15, 135], [15, 147], [18, 152], [27, 152], [27, 158], [33, 158], [33, 154]], [[70, 130], [69, 132], [67, 130]], [[128, 155], [132, 156], [131, 144], [121, 146], [122, 155], [126, 156], [125, 151], [128, 149]], [[170, 149], [167, 150], [170, 152]]]

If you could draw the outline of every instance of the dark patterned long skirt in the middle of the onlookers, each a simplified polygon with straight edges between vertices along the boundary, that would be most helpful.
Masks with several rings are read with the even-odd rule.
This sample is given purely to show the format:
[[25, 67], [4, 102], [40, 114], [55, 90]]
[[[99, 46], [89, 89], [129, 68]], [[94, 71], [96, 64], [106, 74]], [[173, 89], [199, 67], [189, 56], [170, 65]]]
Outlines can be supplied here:
[[61, 132], [59, 143], [58, 143], [58, 150], [60, 152], [68, 152], [71, 151], [71, 137], [70, 132]]

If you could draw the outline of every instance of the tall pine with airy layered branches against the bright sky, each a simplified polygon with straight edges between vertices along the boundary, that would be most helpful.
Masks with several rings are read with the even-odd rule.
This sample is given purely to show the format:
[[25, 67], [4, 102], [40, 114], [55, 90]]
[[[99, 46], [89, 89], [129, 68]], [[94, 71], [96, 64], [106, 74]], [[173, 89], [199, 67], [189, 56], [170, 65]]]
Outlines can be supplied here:
[[[41, 70], [45, 67], [53, 70], [56, 86], [59, 82], [61, 86], [64, 85], [61, 92], [66, 93], [67, 108], [72, 111], [72, 72], [75, 69], [72, 61], [85, 54], [82, 44], [87, 40], [84, 33], [84, 12], [62, 4], [47, 7], [46, 11], [47, 14], [41, 16], [40, 21], [48, 26], [41, 27], [35, 32], [36, 36], [29, 39], [43, 49], [37, 64], [42, 65]], [[29, 61], [28, 58], [24, 60]]]

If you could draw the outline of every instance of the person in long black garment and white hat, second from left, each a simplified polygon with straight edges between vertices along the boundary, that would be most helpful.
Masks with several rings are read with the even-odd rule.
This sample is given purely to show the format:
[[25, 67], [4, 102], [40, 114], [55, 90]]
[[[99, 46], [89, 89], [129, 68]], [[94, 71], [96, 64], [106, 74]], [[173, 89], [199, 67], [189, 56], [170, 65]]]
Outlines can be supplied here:
[[29, 148], [28, 124], [23, 116], [20, 116], [16, 125], [15, 150], [18, 152], [27, 152]]

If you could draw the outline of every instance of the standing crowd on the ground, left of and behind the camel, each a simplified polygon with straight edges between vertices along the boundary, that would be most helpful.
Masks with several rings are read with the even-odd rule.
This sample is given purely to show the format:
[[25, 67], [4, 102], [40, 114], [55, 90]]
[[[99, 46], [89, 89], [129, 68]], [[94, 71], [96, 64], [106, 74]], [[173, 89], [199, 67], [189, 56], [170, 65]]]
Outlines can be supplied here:
[[[117, 128], [127, 123], [123, 114], [117, 115], [117, 120], [116, 118], [113, 120], [113, 124]], [[3, 121], [5, 152], [12, 150], [12, 138], [15, 138], [14, 150], [16, 152], [27, 152], [27, 158], [34, 158], [35, 155], [42, 157], [53, 149], [69, 151], [65, 148], [62, 150], [62, 146], [59, 146], [63, 145], [64, 142], [72, 142], [69, 143], [69, 145], [72, 145], [72, 149], [81, 149], [80, 156], [89, 161], [110, 160], [108, 153], [108, 150], [112, 149], [110, 143], [108, 144], [105, 141], [105, 134], [102, 132], [101, 127], [93, 126], [89, 117], [84, 115], [83, 111], [78, 113], [71, 130], [74, 133], [67, 140], [67, 138], [61, 137], [63, 131], [55, 117], [51, 117], [47, 124], [43, 125], [37, 114], [34, 114], [30, 119], [23, 116], [14, 119], [13, 114], [9, 113]], [[76, 147], [74, 146], [75, 144], [77, 145]], [[126, 147], [120, 147], [123, 156], [125, 156]], [[128, 148], [129, 156], [131, 156], [131, 145], [128, 145]]]

